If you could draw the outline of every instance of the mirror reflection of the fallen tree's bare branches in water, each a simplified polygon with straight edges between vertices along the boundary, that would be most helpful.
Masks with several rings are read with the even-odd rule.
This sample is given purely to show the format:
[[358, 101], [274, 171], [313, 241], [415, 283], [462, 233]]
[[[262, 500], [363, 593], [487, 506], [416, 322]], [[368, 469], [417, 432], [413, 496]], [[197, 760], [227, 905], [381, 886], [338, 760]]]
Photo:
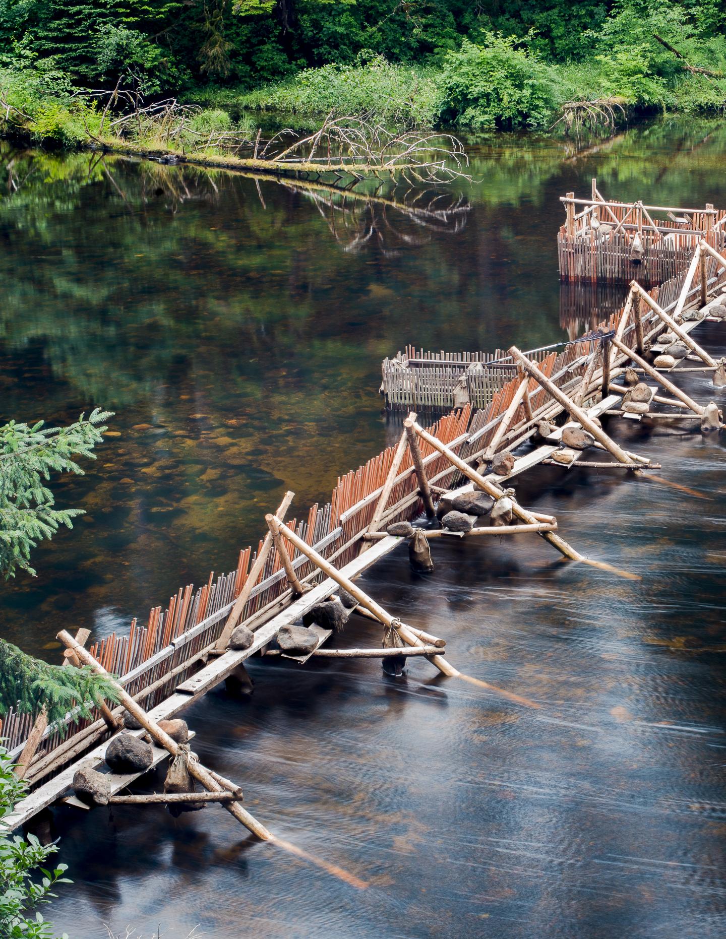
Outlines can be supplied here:
[[382, 254], [425, 244], [436, 234], [456, 235], [467, 222], [471, 206], [463, 195], [440, 189], [356, 192], [302, 181], [282, 183], [311, 199], [343, 251], [356, 253], [376, 246]]

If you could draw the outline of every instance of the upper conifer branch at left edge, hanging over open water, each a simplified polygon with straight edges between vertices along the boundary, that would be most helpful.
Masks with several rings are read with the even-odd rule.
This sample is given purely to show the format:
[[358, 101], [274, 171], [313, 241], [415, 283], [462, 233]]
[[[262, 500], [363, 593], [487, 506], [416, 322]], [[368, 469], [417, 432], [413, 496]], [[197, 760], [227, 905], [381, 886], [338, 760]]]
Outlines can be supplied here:
[[82, 509], [56, 509], [53, 492], [45, 485], [52, 472], [83, 473], [79, 456], [94, 459], [111, 417], [95, 408], [68, 427], [32, 427], [10, 421], [0, 427], [0, 573], [14, 577], [18, 568], [30, 574], [30, 550], [50, 539], [59, 526], [72, 528]]

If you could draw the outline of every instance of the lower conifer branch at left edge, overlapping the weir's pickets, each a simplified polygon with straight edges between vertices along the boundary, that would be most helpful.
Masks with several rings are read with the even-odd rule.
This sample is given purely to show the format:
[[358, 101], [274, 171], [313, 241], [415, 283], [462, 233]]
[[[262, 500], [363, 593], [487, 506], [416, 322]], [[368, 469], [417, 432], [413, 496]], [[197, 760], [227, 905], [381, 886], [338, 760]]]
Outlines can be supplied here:
[[90, 717], [104, 698], [117, 700], [115, 685], [90, 667], [48, 665], [0, 639], [0, 714], [10, 707], [28, 714], [44, 709], [53, 724], [69, 713], [74, 720]]

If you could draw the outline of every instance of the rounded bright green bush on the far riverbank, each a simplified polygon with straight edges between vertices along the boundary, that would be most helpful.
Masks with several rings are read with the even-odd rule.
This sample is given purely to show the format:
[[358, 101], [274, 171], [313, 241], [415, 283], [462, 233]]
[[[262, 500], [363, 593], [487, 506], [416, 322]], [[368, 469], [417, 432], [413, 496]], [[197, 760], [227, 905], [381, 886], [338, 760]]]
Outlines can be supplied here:
[[543, 127], [556, 103], [552, 69], [500, 33], [486, 45], [464, 39], [444, 59], [440, 88], [442, 118], [471, 128]]

